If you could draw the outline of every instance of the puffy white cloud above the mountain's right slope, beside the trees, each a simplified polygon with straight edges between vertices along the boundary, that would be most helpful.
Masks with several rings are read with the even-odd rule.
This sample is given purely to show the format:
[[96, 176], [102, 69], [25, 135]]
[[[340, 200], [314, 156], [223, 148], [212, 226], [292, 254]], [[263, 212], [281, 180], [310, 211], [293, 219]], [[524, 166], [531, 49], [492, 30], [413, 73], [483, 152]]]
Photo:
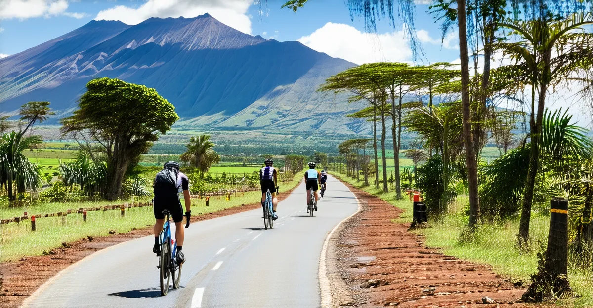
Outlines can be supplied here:
[[327, 23], [298, 41], [318, 52], [356, 64], [404, 62], [412, 57], [412, 50], [404, 38], [404, 31], [363, 33], [351, 25]]

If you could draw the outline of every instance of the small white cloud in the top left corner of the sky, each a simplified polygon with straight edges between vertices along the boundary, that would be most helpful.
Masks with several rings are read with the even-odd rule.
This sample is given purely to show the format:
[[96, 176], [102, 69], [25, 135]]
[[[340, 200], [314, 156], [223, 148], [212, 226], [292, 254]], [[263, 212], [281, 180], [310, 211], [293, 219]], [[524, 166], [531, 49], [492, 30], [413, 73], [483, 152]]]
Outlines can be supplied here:
[[2, 0], [0, 1], [0, 19], [20, 18], [24, 20], [58, 15], [82, 18], [84, 16], [81, 16], [81, 13], [66, 12], [66, 9], [68, 9], [66, 0]]

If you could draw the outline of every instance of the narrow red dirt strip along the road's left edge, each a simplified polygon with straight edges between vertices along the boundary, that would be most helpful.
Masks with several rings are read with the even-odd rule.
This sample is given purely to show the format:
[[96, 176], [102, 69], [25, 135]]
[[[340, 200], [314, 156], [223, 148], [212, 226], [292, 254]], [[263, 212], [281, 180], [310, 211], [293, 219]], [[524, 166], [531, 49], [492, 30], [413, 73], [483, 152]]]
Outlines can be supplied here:
[[[278, 195], [278, 200], [284, 200], [291, 194], [293, 189], [282, 191]], [[253, 210], [259, 207], [261, 207], [260, 203], [252, 203], [227, 208], [215, 213], [193, 216], [192, 223]], [[0, 306], [2, 308], [16, 308], [20, 306], [28, 296], [49, 280], [49, 278], [52, 278], [58, 272], [85, 256], [93, 254], [95, 251], [125, 242], [126, 240], [142, 238], [151, 234], [152, 226], [147, 226], [128, 233], [64, 243], [62, 247], [52, 249], [49, 255], [26, 256], [21, 258], [20, 261], [2, 262], [0, 264]]]

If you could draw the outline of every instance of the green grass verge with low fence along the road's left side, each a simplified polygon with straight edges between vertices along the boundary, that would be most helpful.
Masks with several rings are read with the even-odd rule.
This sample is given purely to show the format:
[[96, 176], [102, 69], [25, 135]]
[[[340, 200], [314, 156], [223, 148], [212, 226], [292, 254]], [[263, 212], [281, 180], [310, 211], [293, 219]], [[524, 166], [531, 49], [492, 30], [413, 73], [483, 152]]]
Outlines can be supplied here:
[[[301, 181], [301, 172], [297, 173], [290, 182], [282, 182], [282, 191], [295, 187]], [[280, 193], [282, 194], [282, 191]], [[205, 200], [192, 200], [192, 214], [208, 214], [225, 208], [238, 207], [260, 200], [260, 191], [249, 191], [232, 195], [231, 200], [225, 197], [211, 197], [209, 206]], [[107, 204], [122, 204], [123, 201], [109, 203], [52, 203], [29, 207], [0, 207], [0, 217], [11, 218], [21, 216], [23, 211], [34, 213], [55, 213], [79, 207], [97, 207]], [[259, 222], [259, 221], [258, 221]], [[152, 207], [129, 208], [126, 216], [120, 217], [119, 210], [89, 211], [87, 222], [82, 222], [82, 214], [69, 214], [66, 223], [62, 224], [62, 217], [43, 217], [37, 219], [36, 232], [31, 232], [30, 220], [22, 223], [0, 225], [0, 262], [15, 260], [24, 255], [41, 255], [43, 251], [50, 251], [59, 247], [63, 242], [87, 238], [87, 236], [107, 236], [110, 230], [117, 233], [129, 232], [134, 228], [142, 228], [154, 224]]]

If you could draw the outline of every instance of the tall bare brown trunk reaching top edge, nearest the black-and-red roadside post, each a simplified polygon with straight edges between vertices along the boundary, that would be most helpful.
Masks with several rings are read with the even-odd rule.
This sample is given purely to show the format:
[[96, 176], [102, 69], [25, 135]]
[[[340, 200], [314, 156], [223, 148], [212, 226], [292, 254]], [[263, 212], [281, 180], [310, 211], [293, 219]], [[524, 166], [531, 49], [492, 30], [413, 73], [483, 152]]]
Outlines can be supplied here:
[[467, 52], [466, 2], [457, 0], [457, 20], [459, 24], [459, 52], [461, 59], [461, 103], [463, 104], [463, 141], [466, 147], [467, 182], [470, 190], [470, 226], [480, 220], [480, 201], [478, 199], [478, 175], [476, 155], [473, 151], [470, 123], [470, 59]]

